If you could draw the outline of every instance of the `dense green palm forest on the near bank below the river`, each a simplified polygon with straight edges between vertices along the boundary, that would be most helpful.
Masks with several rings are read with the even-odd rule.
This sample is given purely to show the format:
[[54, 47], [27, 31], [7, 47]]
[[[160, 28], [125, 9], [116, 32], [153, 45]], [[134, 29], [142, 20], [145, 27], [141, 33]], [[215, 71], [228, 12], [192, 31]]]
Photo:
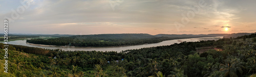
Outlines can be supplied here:
[[[182, 42], [121, 53], [65, 52], [13, 45], [9, 52], [9, 73], [0, 73], [0, 76], [253, 76], [256, 73], [255, 42], [255, 34], [252, 34], [236, 39]], [[216, 46], [223, 51], [196, 52], [196, 47], [207, 46]], [[4, 55], [1, 47], [0, 55]], [[3, 59], [0, 57], [1, 70], [4, 70]]]

